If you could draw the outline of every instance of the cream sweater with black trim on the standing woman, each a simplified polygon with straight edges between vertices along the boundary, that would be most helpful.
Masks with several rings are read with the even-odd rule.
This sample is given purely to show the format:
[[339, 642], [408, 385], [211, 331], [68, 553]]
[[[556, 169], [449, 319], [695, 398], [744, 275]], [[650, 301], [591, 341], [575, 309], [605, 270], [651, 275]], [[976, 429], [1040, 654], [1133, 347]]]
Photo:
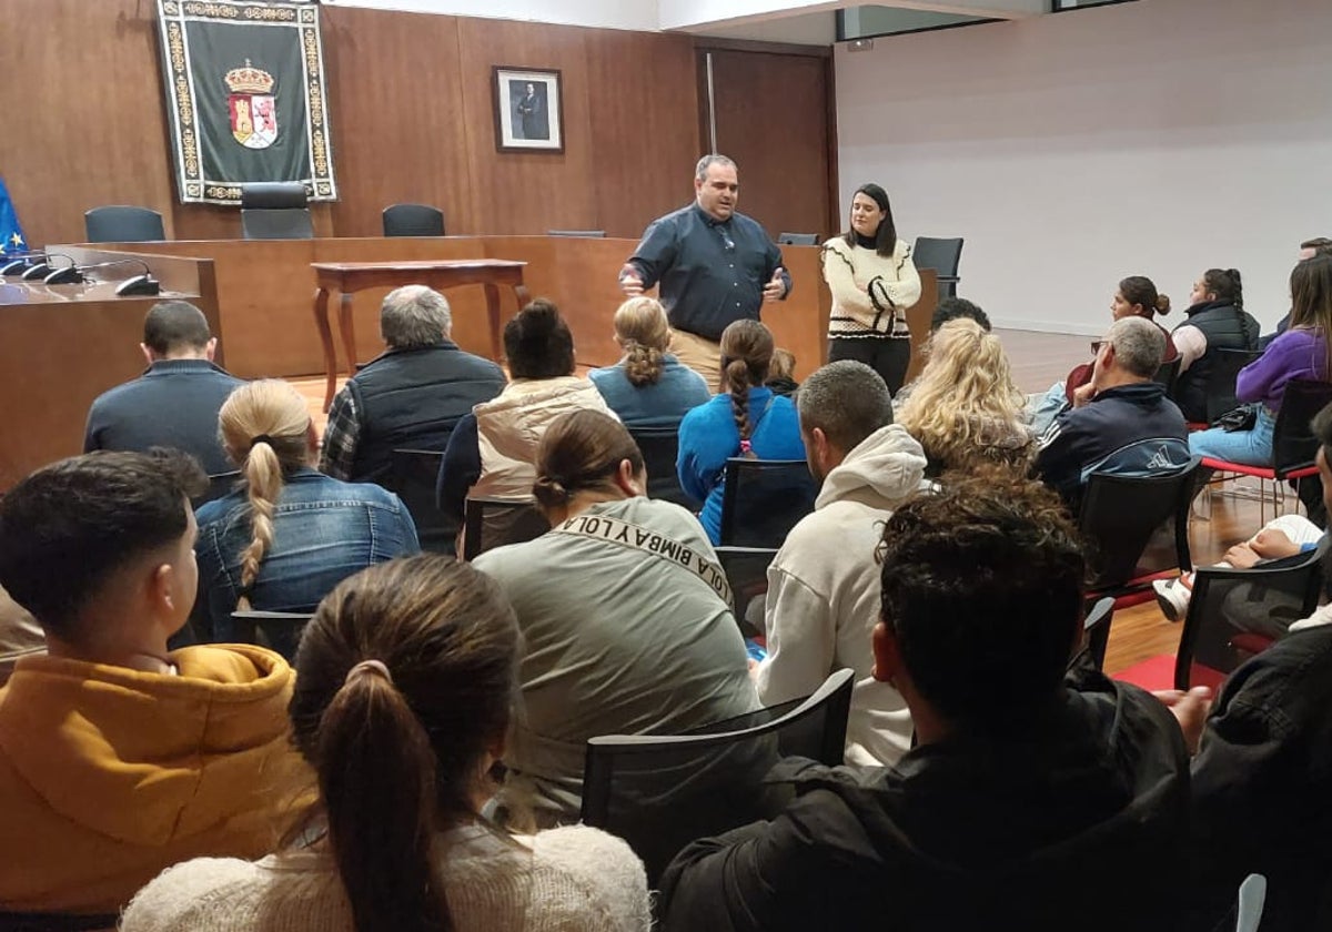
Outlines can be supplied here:
[[832, 292], [830, 340], [894, 337], [910, 340], [906, 310], [920, 300], [920, 276], [911, 244], [898, 237], [892, 256], [848, 246], [843, 237], [823, 244], [823, 280]]

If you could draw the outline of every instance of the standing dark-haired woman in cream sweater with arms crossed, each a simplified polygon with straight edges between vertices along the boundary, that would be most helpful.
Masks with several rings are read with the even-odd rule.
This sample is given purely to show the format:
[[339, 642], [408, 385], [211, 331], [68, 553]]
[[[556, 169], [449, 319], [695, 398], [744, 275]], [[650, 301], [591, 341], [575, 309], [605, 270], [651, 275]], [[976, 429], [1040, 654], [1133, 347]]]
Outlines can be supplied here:
[[825, 242], [819, 258], [832, 292], [829, 362], [863, 362], [896, 394], [911, 365], [906, 312], [920, 298], [920, 276], [911, 262], [911, 245], [898, 237], [883, 188], [856, 189], [851, 229]]

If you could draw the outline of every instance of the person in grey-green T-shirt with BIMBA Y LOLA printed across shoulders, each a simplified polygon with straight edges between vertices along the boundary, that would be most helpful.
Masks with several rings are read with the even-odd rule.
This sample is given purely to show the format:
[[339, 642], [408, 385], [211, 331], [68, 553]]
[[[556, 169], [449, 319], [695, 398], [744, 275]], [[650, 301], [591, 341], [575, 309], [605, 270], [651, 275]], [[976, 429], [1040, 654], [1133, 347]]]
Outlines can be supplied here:
[[758, 708], [717, 555], [689, 511], [643, 497], [646, 482], [622, 423], [565, 413], [533, 486], [554, 530], [474, 561], [522, 630], [502, 800], [538, 824], [578, 820], [589, 738], [679, 734]]

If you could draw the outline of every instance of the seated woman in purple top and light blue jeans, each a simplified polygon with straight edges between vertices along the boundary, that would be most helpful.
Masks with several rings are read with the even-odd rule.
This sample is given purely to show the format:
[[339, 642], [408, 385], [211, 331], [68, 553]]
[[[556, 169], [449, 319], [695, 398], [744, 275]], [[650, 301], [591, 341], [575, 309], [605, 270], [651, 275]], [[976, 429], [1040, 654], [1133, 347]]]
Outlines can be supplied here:
[[1292, 378], [1327, 381], [1332, 373], [1332, 256], [1315, 256], [1291, 272], [1291, 328], [1235, 379], [1235, 398], [1257, 403], [1249, 430], [1209, 427], [1188, 435], [1201, 457], [1249, 466], [1272, 465], [1272, 435]]

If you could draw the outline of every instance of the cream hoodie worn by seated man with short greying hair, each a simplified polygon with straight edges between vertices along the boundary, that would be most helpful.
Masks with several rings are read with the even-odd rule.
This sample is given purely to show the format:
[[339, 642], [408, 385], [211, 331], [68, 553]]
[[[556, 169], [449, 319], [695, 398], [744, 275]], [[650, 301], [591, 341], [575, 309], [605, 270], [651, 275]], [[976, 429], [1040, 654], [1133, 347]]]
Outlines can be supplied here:
[[846, 759], [896, 763], [911, 746], [902, 695], [870, 676], [879, 620], [883, 522], [923, 485], [924, 451], [906, 429], [880, 427], [823, 479], [813, 514], [801, 519], [767, 570], [767, 659], [758, 668], [765, 706], [814, 692], [834, 670], [855, 671]]

